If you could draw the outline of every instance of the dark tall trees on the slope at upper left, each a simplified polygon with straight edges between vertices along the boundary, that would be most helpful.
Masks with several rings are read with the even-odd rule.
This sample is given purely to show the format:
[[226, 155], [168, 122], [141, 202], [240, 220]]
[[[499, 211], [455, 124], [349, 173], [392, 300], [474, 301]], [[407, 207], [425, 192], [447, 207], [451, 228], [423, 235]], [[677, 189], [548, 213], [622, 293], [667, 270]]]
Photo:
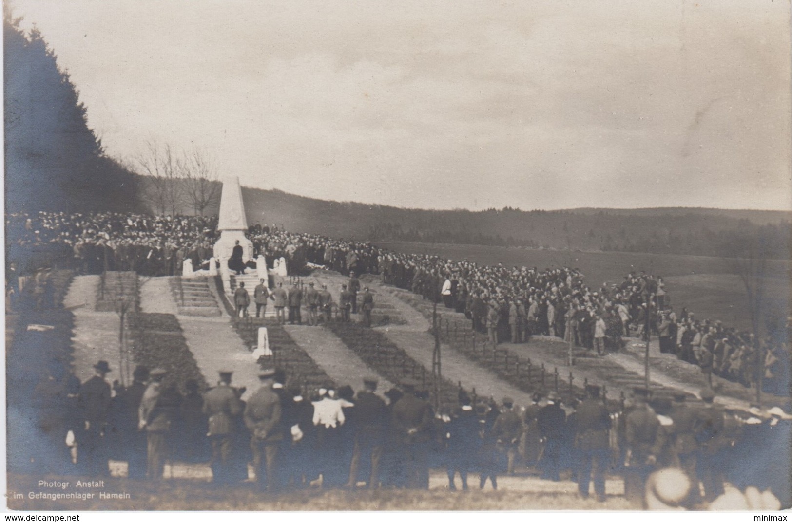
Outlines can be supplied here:
[[140, 208], [137, 176], [105, 154], [67, 71], [3, 10], [6, 211]]

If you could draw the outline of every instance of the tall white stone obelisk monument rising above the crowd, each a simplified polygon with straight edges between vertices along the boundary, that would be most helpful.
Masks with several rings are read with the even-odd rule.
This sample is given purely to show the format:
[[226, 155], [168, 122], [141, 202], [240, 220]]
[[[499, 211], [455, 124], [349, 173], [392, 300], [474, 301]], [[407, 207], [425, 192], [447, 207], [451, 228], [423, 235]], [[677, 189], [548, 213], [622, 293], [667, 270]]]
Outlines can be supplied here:
[[242, 261], [247, 263], [253, 259], [253, 243], [245, 237], [247, 218], [245, 217], [245, 204], [242, 202], [242, 187], [239, 186], [238, 176], [231, 176], [223, 181], [223, 191], [220, 194], [220, 218], [217, 224], [220, 239], [215, 243], [215, 259], [219, 259], [221, 270], [228, 270], [228, 259], [234, 250], [234, 244], [239, 241], [242, 246]]

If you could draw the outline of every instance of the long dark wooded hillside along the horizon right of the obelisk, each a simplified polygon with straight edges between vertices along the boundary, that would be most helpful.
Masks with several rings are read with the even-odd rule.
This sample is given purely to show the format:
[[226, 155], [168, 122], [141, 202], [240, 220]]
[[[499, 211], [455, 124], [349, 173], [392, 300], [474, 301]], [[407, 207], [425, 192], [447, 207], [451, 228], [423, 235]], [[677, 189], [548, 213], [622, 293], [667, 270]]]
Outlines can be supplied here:
[[[146, 178], [141, 177], [143, 191]], [[143, 192], [145, 193], [145, 192]], [[422, 210], [335, 202], [242, 187], [249, 225], [356, 240], [524, 246], [562, 250], [732, 255], [741, 236], [761, 234], [771, 257], [790, 258], [790, 213], [650, 208]], [[188, 206], [182, 211], [189, 213]], [[216, 214], [216, 205], [207, 214]]]

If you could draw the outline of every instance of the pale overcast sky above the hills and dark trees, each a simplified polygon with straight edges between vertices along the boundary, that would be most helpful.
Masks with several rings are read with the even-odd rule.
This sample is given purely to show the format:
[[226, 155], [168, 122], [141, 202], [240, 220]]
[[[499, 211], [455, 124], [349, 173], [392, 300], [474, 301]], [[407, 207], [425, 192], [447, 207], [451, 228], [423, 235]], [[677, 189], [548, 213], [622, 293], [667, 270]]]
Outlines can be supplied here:
[[12, 0], [113, 156], [449, 209], [789, 210], [784, 0]]

